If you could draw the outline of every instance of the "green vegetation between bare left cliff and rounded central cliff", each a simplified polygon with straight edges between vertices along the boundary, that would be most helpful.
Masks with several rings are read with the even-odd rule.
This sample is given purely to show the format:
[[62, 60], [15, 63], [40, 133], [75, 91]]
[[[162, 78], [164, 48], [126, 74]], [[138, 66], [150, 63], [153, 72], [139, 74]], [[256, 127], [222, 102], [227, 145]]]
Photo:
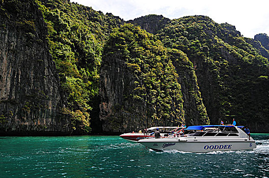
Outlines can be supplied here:
[[59, 72], [67, 105], [63, 113], [73, 118], [73, 128], [90, 131], [91, 110], [98, 110], [101, 51], [112, 28], [122, 23], [69, 1], [36, 1], [48, 28], [48, 43]]

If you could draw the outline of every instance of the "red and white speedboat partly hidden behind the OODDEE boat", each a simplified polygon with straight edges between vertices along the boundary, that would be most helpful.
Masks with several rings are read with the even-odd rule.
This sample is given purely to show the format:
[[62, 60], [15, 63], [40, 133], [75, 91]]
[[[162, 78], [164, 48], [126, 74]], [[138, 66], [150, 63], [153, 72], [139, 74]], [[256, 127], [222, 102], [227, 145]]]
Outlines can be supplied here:
[[154, 138], [154, 132], [156, 129], [159, 129], [160, 136], [162, 137], [168, 137], [169, 135], [174, 135], [176, 132], [179, 132], [180, 130], [184, 129], [184, 127], [151, 127], [148, 129], [145, 129], [143, 132], [131, 132], [131, 133], [124, 133], [121, 134], [120, 137], [123, 139], [126, 139], [129, 142], [138, 142], [140, 139], [145, 138]]

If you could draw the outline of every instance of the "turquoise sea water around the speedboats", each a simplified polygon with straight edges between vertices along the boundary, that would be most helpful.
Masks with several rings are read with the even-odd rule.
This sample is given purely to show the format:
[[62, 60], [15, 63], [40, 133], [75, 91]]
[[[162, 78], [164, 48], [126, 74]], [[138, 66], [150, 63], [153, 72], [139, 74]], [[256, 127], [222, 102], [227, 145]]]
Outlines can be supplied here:
[[119, 136], [0, 137], [0, 177], [269, 177], [269, 134], [254, 151], [148, 151]]

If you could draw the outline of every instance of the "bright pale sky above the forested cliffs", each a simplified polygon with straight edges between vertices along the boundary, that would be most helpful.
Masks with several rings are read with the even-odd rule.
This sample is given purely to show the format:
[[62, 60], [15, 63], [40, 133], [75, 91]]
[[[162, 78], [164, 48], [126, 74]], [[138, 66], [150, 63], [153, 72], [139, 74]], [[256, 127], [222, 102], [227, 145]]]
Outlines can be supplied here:
[[124, 20], [156, 14], [169, 19], [205, 15], [234, 25], [244, 37], [269, 35], [269, 0], [70, 0]]

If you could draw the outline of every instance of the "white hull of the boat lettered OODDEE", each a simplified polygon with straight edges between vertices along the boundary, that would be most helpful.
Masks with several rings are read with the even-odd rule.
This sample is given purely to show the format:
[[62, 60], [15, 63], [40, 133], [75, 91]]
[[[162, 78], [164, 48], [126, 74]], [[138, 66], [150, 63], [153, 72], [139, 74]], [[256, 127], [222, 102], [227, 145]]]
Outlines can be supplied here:
[[[216, 137], [215, 137], [216, 138]], [[210, 140], [210, 141], [208, 141]], [[143, 139], [139, 143], [154, 151], [177, 150], [192, 153], [213, 151], [253, 150], [256, 143], [253, 139], [194, 139], [193, 137], [173, 137], [159, 139]]]

